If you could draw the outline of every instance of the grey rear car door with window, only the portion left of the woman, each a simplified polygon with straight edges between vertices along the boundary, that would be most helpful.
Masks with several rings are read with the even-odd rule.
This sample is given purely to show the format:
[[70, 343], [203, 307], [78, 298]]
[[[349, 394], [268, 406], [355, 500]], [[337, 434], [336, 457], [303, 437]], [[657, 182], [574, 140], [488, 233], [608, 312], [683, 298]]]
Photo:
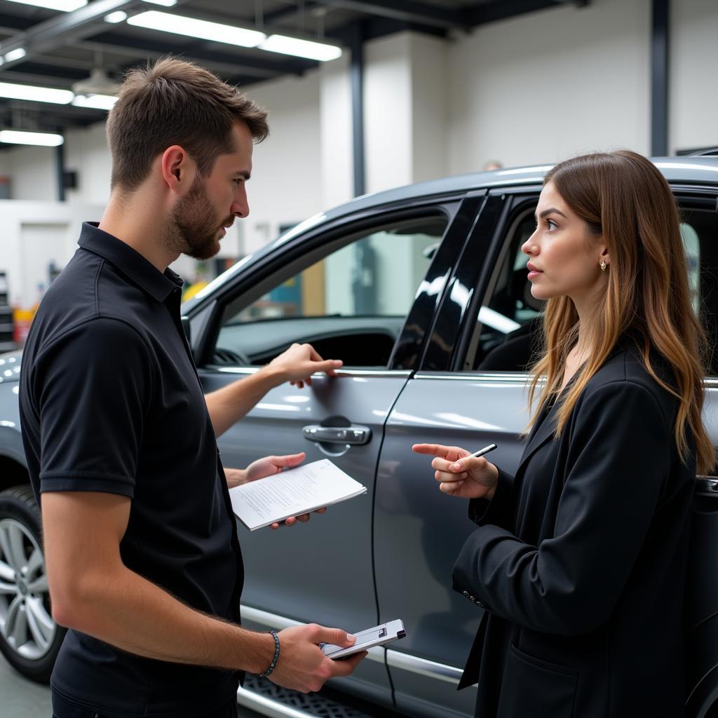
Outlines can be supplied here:
[[377, 595], [381, 621], [402, 617], [406, 625], [408, 637], [390, 645], [386, 659], [396, 706], [417, 717], [474, 714], [475, 688], [456, 689], [482, 610], [451, 590], [454, 558], [472, 531], [467, 505], [439, 493], [429, 457], [413, 454], [411, 444], [475, 450], [495, 442], [492, 460], [508, 470], [518, 464], [528, 421], [521, 357], [502, 370], [481, 365], [540, 312], [523, 294], [520, 258], [537, 198], [538, 188], [490, 193], [421, 367], [386, 423], [374, 520]]

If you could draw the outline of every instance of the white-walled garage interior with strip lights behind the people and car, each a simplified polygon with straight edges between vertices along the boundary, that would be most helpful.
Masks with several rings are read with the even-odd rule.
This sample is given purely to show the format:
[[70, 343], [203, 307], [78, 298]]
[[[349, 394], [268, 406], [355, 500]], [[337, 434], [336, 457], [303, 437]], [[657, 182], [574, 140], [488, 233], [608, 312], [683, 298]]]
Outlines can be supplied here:
[[[269, 111], [250, 215], [217, 256], [172, 264], [188, 301], [362, 195], [587, 151], [718, 154], [716, 37], [714, 0], [0, 0], [0, 354], [22, 349], [81, 223], [103, 213], [105, 120], [132, 67], [181, 57]], [[444, 228], [407, 241], [417, 284]], [[332, 289], [324, 269], [261, 297], [255, 318], [338, 314], [348, 287]], [[392, 307], [393, 287], [381, 291]], [[0, 381], [15, 371], [0, 358]], [[1, 656], [0, 695], [3, 716], [50, 715], [49, 688]]]

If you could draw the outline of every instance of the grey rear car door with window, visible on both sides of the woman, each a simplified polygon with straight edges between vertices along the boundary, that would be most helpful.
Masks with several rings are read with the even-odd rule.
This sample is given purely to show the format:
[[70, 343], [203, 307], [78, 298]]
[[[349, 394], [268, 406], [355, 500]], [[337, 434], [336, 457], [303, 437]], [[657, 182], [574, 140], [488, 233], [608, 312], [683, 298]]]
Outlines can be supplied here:
[[[450, 589], [454, 559], [473, 529], [467, 503], [439, 493], [429, 458], [412, 454], [411, 444], [475, 450], [495, 442], [491, 460], [509, 472], [516, 469], [529, 419], [526, 364], [538, 346], [541, 322], [541, 302], [531, 296], [528, 258], [521, 253], [533, 232], [538, 191], [516, 188], [488, 198], [495, 202], [495, 225], [487, 213], [482, 234], [467, 244], [421, 366], [386, 425], [376, 492], [374, 540], [382, 546], [376, 554], [377, 595], [381, 620], [401, 615], [406, 623], [409, 638], [388, 648], [386, 658], [397, 707], [417, 717], [473, 715], [475, 688], [457, 693], [456, 684], [482, 610]], [[704, 421], [718, 443], [717, 190], [673, 191], [681, 205], [694, 309], [712, 349]], [[707, 503], [714, 481], [696, 484], [686, 594], [690, 715], [705, 714], [718, 695], [718, 584], [714, 551], [705, 551], [718, 529], [715, 502]]]

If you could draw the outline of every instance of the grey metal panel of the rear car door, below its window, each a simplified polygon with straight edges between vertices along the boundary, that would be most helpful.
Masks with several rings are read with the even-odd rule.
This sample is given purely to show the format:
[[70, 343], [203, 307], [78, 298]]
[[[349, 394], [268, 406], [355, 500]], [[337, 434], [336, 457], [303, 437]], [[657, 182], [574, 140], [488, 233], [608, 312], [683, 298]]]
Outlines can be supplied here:
[[482, 610], [451, 590], [473, 524], [467, 502], [439, 492], [429, 457], [411, 444], [475, 451], [518, 465], [526, 425], [521, 374], [416, 373], [389, 414], [379, 462], [374, 543], [380, 620], [401, 616], [407, 638], [387, 651], [396, 705], [417, 717], [473, 715], [475, 689], [457, 692]]

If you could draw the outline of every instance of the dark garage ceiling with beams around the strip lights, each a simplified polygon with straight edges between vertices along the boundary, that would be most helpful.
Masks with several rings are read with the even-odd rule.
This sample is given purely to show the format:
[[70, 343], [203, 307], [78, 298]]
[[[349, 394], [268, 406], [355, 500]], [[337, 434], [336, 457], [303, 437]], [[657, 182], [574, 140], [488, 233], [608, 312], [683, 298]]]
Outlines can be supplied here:
[[[128, 15], [148, 9], [169, 11], [264, 32], [278, 31], [349, 47], [412, 29], [440, 37], [469, 32], [477, 25], [560, 4], [588, 0], [178, 0], [163, 8], [142, 0], [95, 0], [71, 13], [0, 0], [0, 55], [22, 42], [27, 55], [0, 65], [0, 82], [70, 89], [95, 67], [121, 79], [125, 70], [172, 53], [242, 87], [302, 75], [314, 60], [104, 21], [108, 12]], [[88, 17], [93, 16], [93, 17]], [[71, 105], [0, 98], [0, 129], [61, 131], [103, 120], [105, 111]], [[0, 147], [2, 145], [0, 144]]]

